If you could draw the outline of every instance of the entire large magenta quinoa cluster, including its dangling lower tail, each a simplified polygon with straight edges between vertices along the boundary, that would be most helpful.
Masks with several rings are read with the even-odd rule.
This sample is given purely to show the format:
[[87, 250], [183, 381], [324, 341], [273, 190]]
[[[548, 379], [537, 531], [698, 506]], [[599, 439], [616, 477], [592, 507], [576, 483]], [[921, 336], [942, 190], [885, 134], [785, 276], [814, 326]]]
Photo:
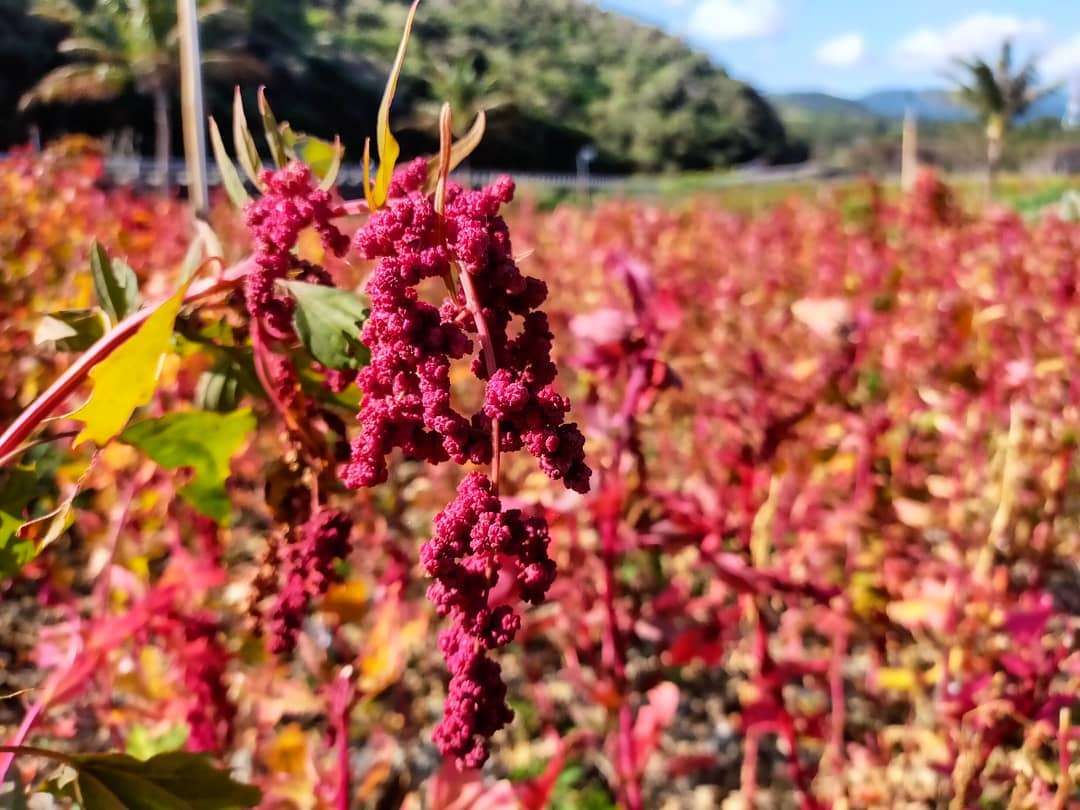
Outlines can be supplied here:
[[[359, 253], [376, 261], [366, 286], [372, 313], [361, 336], [372, 361], [356, 380], [363, 429], [342, 478], [352, 487], [384, 482], [394, 448], [432, 463], [491, 463], [494, 475], [499, 454], [525, 449], [551, 478], [588, 491], [584, 437], [565, 421], [570, 403], [554, 387], [553, 335], [539, 309], [548, 287], [522, 274], [499, 215], [513, 184], [503, 178], [480, 191], [450, 186], [440, 213], [420, 190], [426, 177], [424, 161], [404, 166], [389, 206], [355, 238]], [[462, 291], [454, 281], [458, 272]], [[426, 279], [446, 281], [438, 308], [420, 299], [417, 287]], [[481, 345], [472, 372], [485, 384], [483, 406], [465, 416], [450, 403], [449, 372], [453, 361], [473, 352], [470, 335]], [[434, 579], [428, 596], [453, 622], [440, 636], [450, 685], [434, 739], [462, 768], [483, 765], [488, 740], [513, 718], [488, 652], [521, 627], [511, 596], [539, 604], [546, 595], [555, 579], [548, 542], [543, 518], [503, 510], [496, 483], [474, 472], [421, 550]], [[500, 580], [508, 578], [511, 596], [496, 602], [496, 586], [505, 593]]]

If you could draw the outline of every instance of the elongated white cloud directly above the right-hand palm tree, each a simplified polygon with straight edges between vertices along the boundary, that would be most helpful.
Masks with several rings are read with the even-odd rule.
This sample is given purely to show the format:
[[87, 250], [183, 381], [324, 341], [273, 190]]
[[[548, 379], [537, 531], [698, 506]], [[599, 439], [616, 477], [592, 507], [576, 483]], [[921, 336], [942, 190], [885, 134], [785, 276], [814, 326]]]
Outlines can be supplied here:
[[957, 56], [985, 55], [1007, 40], [1032, 43], [1049, 31], [1039, 18], [981, 12], [943, 28], [919, 28], [896, 43], [899, 63], [922, 68], [940, 68]]

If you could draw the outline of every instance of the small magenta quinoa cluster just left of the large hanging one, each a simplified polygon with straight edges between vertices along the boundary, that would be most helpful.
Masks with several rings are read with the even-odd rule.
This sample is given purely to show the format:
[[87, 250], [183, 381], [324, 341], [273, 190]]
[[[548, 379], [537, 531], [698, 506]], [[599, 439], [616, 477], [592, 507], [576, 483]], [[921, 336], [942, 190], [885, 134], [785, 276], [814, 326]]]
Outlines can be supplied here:
[[258, 269], [245, 280], [247, 311], [271, 337], [292, 334], [293, 302], [274, 288], [274, 282], [291, 273], [313, 283], [329, 283], [325, 270], [299, 259], [294, 253], [300, 232], [314, 228], [323, 245], [335, 256], [349, 247], [349, 238], [334, 225], [341, 210], [330, 193], [315, 184], [311, 170], [300, 162], [289, 163], [261, 175], [266, 192], [253, 200], [245, 212], [255, 243]]

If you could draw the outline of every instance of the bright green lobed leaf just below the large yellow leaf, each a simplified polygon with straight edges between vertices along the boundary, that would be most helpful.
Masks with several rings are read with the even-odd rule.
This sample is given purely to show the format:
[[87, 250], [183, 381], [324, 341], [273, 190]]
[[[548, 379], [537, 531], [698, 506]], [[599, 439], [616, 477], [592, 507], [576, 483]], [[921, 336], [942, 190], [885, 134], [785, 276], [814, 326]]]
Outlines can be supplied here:
[[120, 438], [168, 470], [190, 468], [191, 482], [180, 497], [218, 523], [229, 519], [231, 503], [225, 489], [229, 460], [255, 429], [249, 408], [231, 414], [183, 410], [136, 422]]

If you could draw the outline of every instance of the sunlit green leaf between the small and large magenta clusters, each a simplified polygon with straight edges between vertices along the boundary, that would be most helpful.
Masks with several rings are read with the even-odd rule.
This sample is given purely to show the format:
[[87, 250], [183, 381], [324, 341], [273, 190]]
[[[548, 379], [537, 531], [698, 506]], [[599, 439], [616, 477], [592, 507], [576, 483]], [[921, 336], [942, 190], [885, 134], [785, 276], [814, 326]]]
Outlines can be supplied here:
[[327, 368], [361, 368], [367, 364], [367, 348], [360, 330], [368, 310], [352, 293], [302, 281], [283, 281], [296, 299], [293, 324], [311, 356]]

